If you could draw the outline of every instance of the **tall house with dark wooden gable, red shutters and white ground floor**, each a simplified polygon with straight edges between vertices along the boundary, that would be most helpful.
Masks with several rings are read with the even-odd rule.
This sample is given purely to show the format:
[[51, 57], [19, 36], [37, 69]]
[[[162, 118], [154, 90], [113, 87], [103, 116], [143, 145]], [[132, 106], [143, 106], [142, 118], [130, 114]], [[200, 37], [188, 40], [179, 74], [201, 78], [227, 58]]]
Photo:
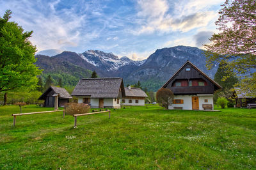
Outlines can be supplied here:
[[169, 109], [205, 110], [213, 109], [213, 93], [221, 86], [186, 61], [162, 88], [168, 88], [174, 94]]

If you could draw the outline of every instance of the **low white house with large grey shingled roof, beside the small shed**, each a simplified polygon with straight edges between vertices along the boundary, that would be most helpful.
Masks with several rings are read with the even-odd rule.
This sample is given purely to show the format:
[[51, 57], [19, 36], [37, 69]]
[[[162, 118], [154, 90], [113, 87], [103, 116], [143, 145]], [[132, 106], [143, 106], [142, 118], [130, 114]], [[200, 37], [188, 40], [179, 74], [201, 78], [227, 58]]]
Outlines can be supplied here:
[[81, 79], [71, 95], [92, 108], [120, 108], [124, 82], [119, 77]]

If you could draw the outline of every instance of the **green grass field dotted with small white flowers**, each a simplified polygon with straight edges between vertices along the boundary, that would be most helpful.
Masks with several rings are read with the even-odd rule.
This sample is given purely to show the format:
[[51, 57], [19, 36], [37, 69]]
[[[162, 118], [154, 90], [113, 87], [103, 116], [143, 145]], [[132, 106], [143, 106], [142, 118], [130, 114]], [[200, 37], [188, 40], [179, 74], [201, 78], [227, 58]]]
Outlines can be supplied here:
[[61, 112], [17, 116], [12, 127], [19, 107], [0, 107], [0, 169], [256, 169], [256, 109], [220, 110], [111, 109], [73, 128]]

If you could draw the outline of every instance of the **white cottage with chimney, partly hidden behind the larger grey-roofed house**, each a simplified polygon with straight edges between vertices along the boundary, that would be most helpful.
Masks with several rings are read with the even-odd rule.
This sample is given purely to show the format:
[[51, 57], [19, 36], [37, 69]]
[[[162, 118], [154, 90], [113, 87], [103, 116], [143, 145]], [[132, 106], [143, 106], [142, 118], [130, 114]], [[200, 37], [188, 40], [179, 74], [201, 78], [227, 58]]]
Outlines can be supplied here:
[[140, 88], [125, 87], [125, 97], [122, 105], [145, 105], [147, 94]]

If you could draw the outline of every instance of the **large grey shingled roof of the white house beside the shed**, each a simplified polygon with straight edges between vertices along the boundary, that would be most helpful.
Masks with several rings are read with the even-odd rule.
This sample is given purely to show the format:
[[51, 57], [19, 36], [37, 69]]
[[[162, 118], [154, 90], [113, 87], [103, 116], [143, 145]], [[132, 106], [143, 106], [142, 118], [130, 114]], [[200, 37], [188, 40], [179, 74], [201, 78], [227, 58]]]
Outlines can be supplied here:
[[81, 79], [72, 96], [90, 96], [90, 98], [118, 98], [119, 89], [125, 96], [124, 82], [122, 78], [90, 78]]

